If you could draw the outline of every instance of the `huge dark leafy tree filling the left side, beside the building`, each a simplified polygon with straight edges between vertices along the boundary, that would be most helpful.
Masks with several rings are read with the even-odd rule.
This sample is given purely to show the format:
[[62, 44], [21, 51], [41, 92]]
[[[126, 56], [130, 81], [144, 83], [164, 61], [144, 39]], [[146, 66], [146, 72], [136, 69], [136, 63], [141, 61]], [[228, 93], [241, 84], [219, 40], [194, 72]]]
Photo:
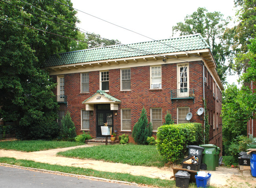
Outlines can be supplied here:
[[[70, 0], [60, 2], [72, 6]], [[50, 33], [74, 38], [76, 29], [61, 25], [67, 23], [58, 18], [75, 25], [75, 15], [72, 8], [50, 0], [0, 4], [0, 118], [16, 122], [19, 137], [51, 139], [59, 133], [58, 104], [52, 92], [56, 84], [41, 68], [48, 55], [70, 50], [70, 39]]]

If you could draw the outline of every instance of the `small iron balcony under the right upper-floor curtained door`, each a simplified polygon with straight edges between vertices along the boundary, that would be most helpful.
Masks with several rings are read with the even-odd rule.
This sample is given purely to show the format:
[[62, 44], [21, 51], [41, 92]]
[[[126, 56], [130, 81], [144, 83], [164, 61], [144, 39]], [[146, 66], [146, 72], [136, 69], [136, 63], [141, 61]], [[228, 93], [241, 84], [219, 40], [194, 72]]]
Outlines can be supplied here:
[[171, 90], [171, 101], [178, 99], [193, 99], [195, 103], [194, 89], [172, 89]]

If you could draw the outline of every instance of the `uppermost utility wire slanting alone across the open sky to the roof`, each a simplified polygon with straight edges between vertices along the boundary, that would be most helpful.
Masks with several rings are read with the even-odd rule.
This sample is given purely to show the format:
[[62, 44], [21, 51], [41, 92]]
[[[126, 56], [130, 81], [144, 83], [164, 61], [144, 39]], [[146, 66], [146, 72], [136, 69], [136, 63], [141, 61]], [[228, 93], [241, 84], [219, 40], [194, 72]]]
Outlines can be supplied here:
[[[56, 1], [56, 0], [53, 0], [53, 1], [55, 1], [55, 2], [57, 2], [57, 3], [59, 3], [59, 4], [62, 4], [62, 5], [65, 5], [65, 6], [67, 6], [67, 7], [70, 7], [70, 8], [72, 8], [72, 9], [74, 9], [74, 10], [80, 11], [79, 9], [76, 9], [76, 8], [71, 7], [71, 6], [69, 6], [69, 5], [63, 4], [63, 3], [58, 2], [58, 1]], [[80, 12], [85, 13], [84, 11], [80, 11]], [[87, 15], [89, 15], [89, 16], [93, 16], [93, 15], [91, 15], [91, 14], [89, 14], [89, 13], [85, 13], [85, 14], [87, 14]], [[142, 35], [142, 34], [140, 34], [140, 33], [137, 33], [137, 32], [135, 32], [135, 31], [132, 31], [132, 30], [130, 30], [130, 29], [127, 29], [127, 28], [125, 28], [125, 27], [118, 26], [118, 25], [116, 25], [116, 24], [113, 24], [113, 23], [111, 23], [111, 22], [108, 22], [108, 21], [106, 21], [106, 20], [103, 20], [102, 18], [98, 18], [97, 16], [93, 16], [93, 17], [95, 17], [95, 18], [97, 18], [97, 19], [100, 19], [100, 20], [102, 20], [102, 21], [104, 21], [104, 22], [107, 22], [107, 23], [109, 23], [109, 24], [112, 24], [112, 25], [114, 25], [114, 26], [120, 27], [120, 28], [122, 28], [122, 29], [125, 29], [125, 30], [131, 31], [131, 32], [133, 32], [133, 33], [136, 33], [137, 35], [141, 35], [141, 36], [143, 36], [143, 37], [149, 38], [150, 40], [154, 40], [154, 41], [156, 41], [156, 42], [159, 42], [159, 43], [161, 43], [161, 44], [167, 45], [167, 46], [169, 46], [169, 47], [173, 47], [173, 46], [171, 46], [171, 45], [169, 45], [169, 44], [165, 44], [165, 43], [163, 43], [163, 42], [160, 42], [159, 40], [155, 40], [155, 39], [153, 39], [153, 38], [147, 37], [147, 36], [145, 36], [145, 35]], [[176, 47], [173, 47], [173, 48], [174, 48], [174, 49], [177, 49], [177, 50], [179, 50], [179, 51], [183, 51], [183, 52], [185, 52], [185, 53], [187, 53], [187, 54], [190, 54], [190, 55], [193, 55], [193, 56], [202, 58], [202, 59], [204, 59], [204, 60], [208, 60], [208, 59], [203, 58], [203, 57], [200, 57], [200, 56], [198, 56], [198, 55], [194, 55], [194, 54], [189, 53], [189, 52], [187, 52], [187, 51], [181, 50], [181, 49], [179, 49], [179, 48], [176, 48]], [[214, 62], [214, 61], [212, 61], [212, 60], [208, 60], [208, 61]]]

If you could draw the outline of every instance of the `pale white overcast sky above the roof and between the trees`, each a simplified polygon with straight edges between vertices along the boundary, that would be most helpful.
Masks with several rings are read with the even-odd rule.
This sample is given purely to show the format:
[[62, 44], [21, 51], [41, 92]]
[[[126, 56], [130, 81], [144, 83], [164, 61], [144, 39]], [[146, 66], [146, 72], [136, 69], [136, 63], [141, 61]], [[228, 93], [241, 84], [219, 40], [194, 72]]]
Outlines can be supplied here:
[[[103, 38], [117, 39], [122, 44], [171, 38], [172, 27], [178, 22], [184, 22], [186, 15], [191, 15], [198, 7], [205, 7], [208, 12], [218, 11], [224, 15], [224, 18], [231, 16], [232, 20], [235, 20], [236, 14], [234, 0], [71, 0], [71, 2], [74, 8], [87, 13], [78, 11], [80, 24], [77, 26], [81, 31], [99, 34]], [[232, 26], [234, 26], [233, 22], [229, 27]], [[229, 76], [227, 81], [232, 83], [236, 78], [237, 76]]]

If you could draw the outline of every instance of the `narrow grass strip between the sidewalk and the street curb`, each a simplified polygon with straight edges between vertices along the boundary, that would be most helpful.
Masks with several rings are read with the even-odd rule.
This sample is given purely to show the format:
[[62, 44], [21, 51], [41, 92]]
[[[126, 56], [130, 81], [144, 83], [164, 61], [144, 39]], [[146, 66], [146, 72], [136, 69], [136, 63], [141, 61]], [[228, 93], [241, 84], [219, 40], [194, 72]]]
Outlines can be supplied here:
[[[53, 164], [46, 164], [41, 162], [34, 162], [28, 160], [17, 160], [14, 158], [8, 157], [0, 157], [0, 163], [6, 164], [15, 164], [18, 166], [52, 170], [64, 173], [72, 173], [77, 175], [86, 175], [91, 177], [101, 177], [106, 179], [114, 179], [119, 181], [127, 181], [131, 183], [137, 183], [144, 186], [154, 186], [154, 187], [162, 187], [162, 188], [175, 188], [175, 181], [173, 180], [163, 180], [159, 178], [150, 178], [145, 176], [135, 176], [129, 173], [113, 173], [113, 172], [102, 172], [98, 170], [92, 170], [89, 168], [79, 168], [79, 167], [71, 167], [71, 166], [60, 166]], [[190, 183], [189, 188], [196, 188], [195, 183]], [[210, 188], [210, 187], [209, 187]]]

